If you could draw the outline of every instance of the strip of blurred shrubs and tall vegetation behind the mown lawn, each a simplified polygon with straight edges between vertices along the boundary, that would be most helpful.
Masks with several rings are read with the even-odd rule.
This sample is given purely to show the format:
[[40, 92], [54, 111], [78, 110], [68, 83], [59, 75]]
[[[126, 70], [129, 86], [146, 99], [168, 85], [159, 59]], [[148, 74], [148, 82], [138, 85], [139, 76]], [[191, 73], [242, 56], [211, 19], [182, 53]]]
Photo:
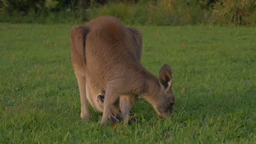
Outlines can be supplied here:
[[255, 26], [254, 0], [0, 0], [0, 22], [82, 23], [100, 15], [127, 25]]

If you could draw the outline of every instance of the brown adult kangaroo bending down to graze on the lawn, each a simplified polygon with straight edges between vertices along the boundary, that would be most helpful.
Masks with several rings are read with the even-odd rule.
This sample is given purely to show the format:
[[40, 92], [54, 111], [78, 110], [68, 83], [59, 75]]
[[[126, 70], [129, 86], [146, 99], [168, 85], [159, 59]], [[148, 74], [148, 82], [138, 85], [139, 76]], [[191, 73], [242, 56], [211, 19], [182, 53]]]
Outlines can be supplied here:
[[[138, 95], [152, 104], [159, 116], [170, 115], [174, 105], [172, 70], [164, 64], [157, 79], [142, 67], [142, 35], [136, 28], [125, 27], [115, 17], [101, 16], [85, 26], [72, 27], [70, 43], [83, 121], [90, 118], [88, 100], [103, 112], [101, 125], [108, 122], [112, 109], [114, 113], [121, 110], [126, 124]], [[103, 90], [104, 103], [98, 99]]]

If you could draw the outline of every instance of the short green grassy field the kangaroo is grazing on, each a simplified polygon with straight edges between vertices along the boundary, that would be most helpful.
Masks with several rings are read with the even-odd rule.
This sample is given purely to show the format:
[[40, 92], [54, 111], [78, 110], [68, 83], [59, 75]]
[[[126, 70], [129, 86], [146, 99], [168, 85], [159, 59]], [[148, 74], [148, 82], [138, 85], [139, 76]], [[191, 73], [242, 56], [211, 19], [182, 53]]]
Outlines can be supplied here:
[[172, 67], [174, 115], [138, 101], [113, 128], [91, 106], [80, 122], [71, 27], [0, 23], [0, 143], [256, 143], [256, 28], [138, 27], [143, 66]]

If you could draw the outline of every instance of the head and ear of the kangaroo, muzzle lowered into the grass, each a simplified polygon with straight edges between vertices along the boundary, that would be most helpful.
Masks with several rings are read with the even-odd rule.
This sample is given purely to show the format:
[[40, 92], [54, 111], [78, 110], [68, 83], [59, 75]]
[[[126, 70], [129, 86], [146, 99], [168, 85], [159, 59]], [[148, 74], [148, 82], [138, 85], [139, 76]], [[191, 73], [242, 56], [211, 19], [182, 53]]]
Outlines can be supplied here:
[[164, 64], [159, 72], [160, 91], [153, 105], [155, 111], [161, 117], [168, 117], [172, 113], [172, 106], [175, 103], [174, 94], [172, 91], [172, 70], [169, 65]]

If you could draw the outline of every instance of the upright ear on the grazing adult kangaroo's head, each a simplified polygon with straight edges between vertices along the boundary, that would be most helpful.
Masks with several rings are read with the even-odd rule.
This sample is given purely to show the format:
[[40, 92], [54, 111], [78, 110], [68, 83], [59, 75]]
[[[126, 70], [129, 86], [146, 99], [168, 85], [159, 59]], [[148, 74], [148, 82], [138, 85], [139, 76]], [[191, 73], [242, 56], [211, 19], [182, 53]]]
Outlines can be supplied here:
[[169, 65], [164, 64], [159, 72], [158, 81], [165, 91], [169, 91], [172, 86], [172, 69]]

